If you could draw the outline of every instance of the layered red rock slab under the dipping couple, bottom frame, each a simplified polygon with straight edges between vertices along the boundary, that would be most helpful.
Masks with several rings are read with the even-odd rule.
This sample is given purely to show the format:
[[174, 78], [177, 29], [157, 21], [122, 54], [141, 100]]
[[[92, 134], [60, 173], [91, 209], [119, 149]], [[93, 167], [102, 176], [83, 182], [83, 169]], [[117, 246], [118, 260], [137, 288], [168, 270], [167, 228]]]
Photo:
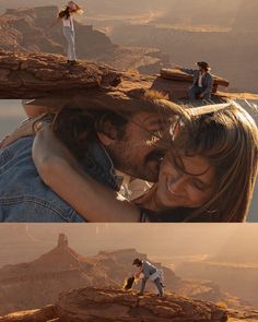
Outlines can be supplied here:
[[138, 297], [119, 289], [81, 288], [61, 294], [57, 312], [63, 322], [72, 321], [191, 321], [223, 322], [225, 310], [215, 305], [176, 295]]

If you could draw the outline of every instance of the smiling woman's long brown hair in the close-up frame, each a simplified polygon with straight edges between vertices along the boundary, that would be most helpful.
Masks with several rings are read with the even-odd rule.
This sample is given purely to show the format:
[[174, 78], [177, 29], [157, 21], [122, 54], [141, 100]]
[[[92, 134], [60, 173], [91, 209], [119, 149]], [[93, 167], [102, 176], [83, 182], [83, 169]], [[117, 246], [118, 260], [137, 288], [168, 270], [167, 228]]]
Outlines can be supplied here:
[[[257, 177], [258, 130], [250, 115], [236, 103], [226, 109], [194, 117], [183, 126], [169, 150], [180, 170], [180, 157], [203, 156], [215, 169], [211, 199], [200, 208], [178, 208], [184, 222], [244, 222]], [[164, 212], [173, 220], [173, 212]], [[184, 215], [185, 214], [185, 215]]]

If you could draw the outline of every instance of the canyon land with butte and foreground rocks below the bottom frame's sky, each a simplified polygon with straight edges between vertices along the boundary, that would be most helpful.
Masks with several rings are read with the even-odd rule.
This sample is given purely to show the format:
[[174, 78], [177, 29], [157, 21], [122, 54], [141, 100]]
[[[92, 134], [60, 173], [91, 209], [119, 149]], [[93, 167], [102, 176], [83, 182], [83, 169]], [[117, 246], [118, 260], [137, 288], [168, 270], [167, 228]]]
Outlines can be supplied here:
[[[199, 270], [202, 274], [200, 273], [198, 278], [186, 278], [181, 276], [186, 276], [187, 271], [190, 273], [192, 267], [186, 265], [184, 270], [178, 265], [175, 274], [167, 265], [151, 260], [155, 266], [164, 271], [164, 299], [156, 301], [152, 284], [148, 285], [146, 296], [143, 298], [133, 295], [138, 285], [132, 294], [122, 291], [125, 279], [132, 274], [131, 263], [134, 258], [149, 260], [145, 253], [133, 248], [82, 255], [69, 246], [68, 236], [61, 232], [56, 247], [50, 251], [31, 262], [7, 264], [0, 269], [2, 321], [50, 321], [50, 318], [44, 320], [45, 314], [50, 314], [52, 319], [61, 319], [57, 321], [92, 321], [93, 317], [99, 319], [97, 321], [105, 321], [101, 320], [104, 319], [104, 314], [113, 317], [114, 310], [121, 312], [119, 321], [130, 321], [126, 319], [133, 319], [138, 314], [143, 314], [143, 319], [150, 319], [150, 314], [153, 314], [160, 317], [159, 321], [168, 321], [167, 319], [176, 317], [179, 311], [180, 318], [175, 321], [219, 322], [231, 321], [225, 319], [232, 317], [237, 317], [239, 321], [258, 321], [258, 312], [255, 310], [258, 305], [255, 301], [251, 303], [251, 298], [244, 291], [243, 298], [236, 296], [236, 289], [232, 288], [232, 291], [228, 291], [226, 283], [222, 290], [219, 283], [212, 281], [216, 276], [214, 272], [208, 278], [208, 270], [207, 273]], [[254, 278], [253, 276], [255, 285]], [[105, 303], [112, 305], [105, 308]], [[131, 311], [130, 308], [133, 306], [136, 310]], [[78, 307], [80, 310], [75, 310]], [[209, 320], [206, 320], [207, 317]], [[109, 320], [113, 321], [112, 318]]]

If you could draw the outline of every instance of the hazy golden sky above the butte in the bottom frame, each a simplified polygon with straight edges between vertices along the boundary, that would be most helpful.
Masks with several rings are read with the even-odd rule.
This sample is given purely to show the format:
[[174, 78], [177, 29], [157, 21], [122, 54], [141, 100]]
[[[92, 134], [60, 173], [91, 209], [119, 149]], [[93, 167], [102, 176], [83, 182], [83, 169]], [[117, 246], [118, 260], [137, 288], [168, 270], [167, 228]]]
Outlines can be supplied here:
[[[52, 249], [60, 232], [83, 255], [136, 248], [150, 258], [208, 254], [258, 263], [258, 224], [2, 224], [0, 266], [32, 261]], [[236, 259], [237, 260], [237, 259]]]

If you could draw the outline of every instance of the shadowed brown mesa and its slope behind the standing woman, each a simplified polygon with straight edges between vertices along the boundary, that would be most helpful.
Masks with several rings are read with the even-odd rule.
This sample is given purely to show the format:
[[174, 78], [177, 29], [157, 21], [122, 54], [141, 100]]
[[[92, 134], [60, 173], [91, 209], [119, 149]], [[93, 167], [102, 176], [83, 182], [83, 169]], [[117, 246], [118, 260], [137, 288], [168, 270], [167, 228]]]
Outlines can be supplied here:
[[[61, 26], [49, 28], [56, 20], [55, 5], [32, 9], [9, 9], [0, 16], [0, 48], [15, 52], [64, 53]], [[80, 59], [94, 60], [120, 70], [156, 72], [165, 65], [166, 57], [155, 48], [129, 48], [115, 45], [92, 25], [74, 23], [77, 52]]]

